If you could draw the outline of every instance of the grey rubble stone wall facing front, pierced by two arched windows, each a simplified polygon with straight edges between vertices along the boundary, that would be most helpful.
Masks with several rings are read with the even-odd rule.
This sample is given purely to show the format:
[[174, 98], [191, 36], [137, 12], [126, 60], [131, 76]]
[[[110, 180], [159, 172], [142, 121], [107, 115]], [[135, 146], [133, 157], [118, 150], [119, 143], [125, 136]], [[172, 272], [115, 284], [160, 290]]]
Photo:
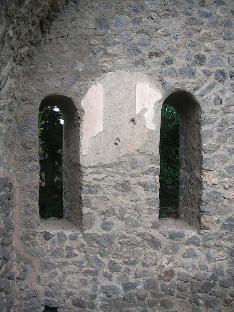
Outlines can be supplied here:
[[[233, 310], [232, 19], [232, 1], [69, 1], [52, 22], [19, 77], [8, 133], [19, 185], [15, 311]], [[160, 111], [178, 90], [199, 106], [181, 118], [185, 221], [158, 221]], [[64, 172], [65, 193], [81, 188], [78, 227], [66, 211], [71, 223], [39, 219], [37, 119], [53, 93], [71, 98], [80, 125], [71, 142], [80, 185]]]

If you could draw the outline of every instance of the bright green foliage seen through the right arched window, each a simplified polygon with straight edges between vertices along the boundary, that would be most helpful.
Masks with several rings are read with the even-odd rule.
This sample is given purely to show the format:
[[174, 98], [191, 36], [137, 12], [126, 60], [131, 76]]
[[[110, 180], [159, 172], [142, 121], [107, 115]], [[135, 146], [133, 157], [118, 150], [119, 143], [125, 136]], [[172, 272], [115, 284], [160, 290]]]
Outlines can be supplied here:
[[160, 129], [160, 200], [179, 198], [179, 120], [170, 105], [163, 105]]

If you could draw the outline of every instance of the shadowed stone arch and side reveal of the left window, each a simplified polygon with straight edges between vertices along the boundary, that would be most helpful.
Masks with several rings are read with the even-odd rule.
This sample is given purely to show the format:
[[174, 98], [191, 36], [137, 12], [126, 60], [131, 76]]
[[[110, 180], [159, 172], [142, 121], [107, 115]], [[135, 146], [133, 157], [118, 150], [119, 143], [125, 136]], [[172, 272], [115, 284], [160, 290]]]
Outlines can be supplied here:
[[56, 106], [63, 114], [63, 215], [81, 228], [80, 116], [71, 98], [64, 95], [46, 96], [41, 101], [39, 110], [46, 106]]

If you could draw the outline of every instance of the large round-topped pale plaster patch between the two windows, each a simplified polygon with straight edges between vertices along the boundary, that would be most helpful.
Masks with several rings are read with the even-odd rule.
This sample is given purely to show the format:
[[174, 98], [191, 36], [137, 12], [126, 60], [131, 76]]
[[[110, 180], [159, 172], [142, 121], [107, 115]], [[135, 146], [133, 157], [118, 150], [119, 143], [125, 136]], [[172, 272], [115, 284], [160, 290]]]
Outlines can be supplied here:
[[[103, 105], [95, 106], [96, 104], [93, 104], [93, 101], [99, 101], [97, 103], [100, 103], [101, 97], [97, 97], [95, 93], [93, 93], [92, 100], [90, 100], [88, 97], [88, 94], [91, 94], [89, 93], [90, 91], [85, 95], [84, 100], [81, 100], [81, 106], [84, 105], [83, 103], [85, 101], [85, 105], [89, 107], [99, 107], [100, 111], [102, 107], [103, 114], [102, 131], [99, 131], [98, 134], [92, 137], [89, 135], [88, 151], [86, 154], [82, 152], [81, 158], [85, 165], [96, 165], [104, 162], [111, 163], [125, 154], [136, 151], [144, 144], [149, 128], [145, 121], [145, 111], [141, 110], [140, 113], [136, 113], [136, 99], [137, 96], [139, 97], [136, 93], [136, 85], [138, 85], [139, 80], [149, 81], [149, 77], [143, 73], [134, 74], [127, 71], [107, 73], [102, 77], [98, 77], [94, 85], [89, 89], [96, 90], [95, 85], [102, 86]], [[151, 95], [154, 98], [150, 100], [149, 114], [151, 114], [150, 118], [153, 118], [153, 108], [155, 101], [157, 101], [159, 97], [159, 93], [157, 95], [157, 91], [151, 88], [147, 89], [142, 98], [145, 102], [143, 104], [140, 103], [140, 105], [147, 106], [148, 102], [146, 103], [146, 101], [151, 99]], [[159, 107], [161, 107], [160, 105], [161, 104], [159, 104]], [[94, 131], [97, 123], [100, 125], [101, 129], [101, 124], [99, 124], [101, 118], [97, 118], [95, 114], [93, 118], [95, 120], [91, 122], [93, 119], [90, 118], [88, 111], [84, 110], [81, 147], [84, 146], [84, 142], [85, 144], [88, 142], [88, 140], [86, 140], [88, 132], [86, 132], [86, 136], [84, 137], [85, 124], [90, 127], [91, 131]], [[154, 122], [160, 125], [160, 116], [154, 117]], [[126, 133], [128, 133], [128, 135], [126, 135]], [[158, 142], [158, 138], [158, 134], [155, 134], [155, 144]], [[105, 149], [103, 149], [102, 146], [105, 146]]]

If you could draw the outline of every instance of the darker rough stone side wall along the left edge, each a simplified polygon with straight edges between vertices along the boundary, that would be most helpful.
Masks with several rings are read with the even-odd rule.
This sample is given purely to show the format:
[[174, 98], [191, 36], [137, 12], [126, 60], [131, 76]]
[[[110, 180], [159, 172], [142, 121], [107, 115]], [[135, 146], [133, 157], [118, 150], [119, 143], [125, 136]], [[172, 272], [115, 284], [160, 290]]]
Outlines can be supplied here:
[[[0, 204], [1, 204], [1, 311], [15, 304], [17, 276], [20, 280], [16, 253], [13, 250], [17, 181], [15, 179], [15, 141], [23, 125], [16, 123], [20, 106], [23, 75], [37, 51], [50, 22], [64, 1], [8, 1], [0, 3], [1, 17], [1, 99], [0, 99]], [[47, 19], [48, 18], [48, 19]], [[18, 131], [18, 132], [17, 132]], [[29, 157], [30, 158], [30, 157]], [[36, 157], [38, 159], [38, 157]], [[27, 160], [26, 160], [27, 161]]]

